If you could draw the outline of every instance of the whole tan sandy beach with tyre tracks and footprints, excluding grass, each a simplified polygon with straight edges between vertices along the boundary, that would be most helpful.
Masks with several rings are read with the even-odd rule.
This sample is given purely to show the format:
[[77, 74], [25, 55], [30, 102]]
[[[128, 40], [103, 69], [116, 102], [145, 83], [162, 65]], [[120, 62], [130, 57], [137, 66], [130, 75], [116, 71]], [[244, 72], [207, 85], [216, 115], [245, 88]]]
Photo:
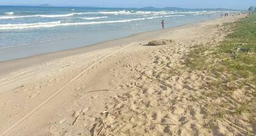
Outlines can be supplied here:
[[204, 125], [207, 100], [193, 99], [213, 77], [183, 70], [194, 46], [221, 42], [222, 25], [245, 16], [1, 62], [0, 135], [246, 134], [246, 121]]

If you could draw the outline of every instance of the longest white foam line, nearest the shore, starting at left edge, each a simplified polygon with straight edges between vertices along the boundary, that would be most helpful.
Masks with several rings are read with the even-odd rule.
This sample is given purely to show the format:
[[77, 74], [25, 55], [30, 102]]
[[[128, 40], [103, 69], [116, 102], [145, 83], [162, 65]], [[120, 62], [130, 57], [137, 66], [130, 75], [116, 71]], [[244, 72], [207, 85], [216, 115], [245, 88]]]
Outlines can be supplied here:
[[93, 24], [112, 24], [118, 22], [131, 22], [144, 20], [146, 18], [136, 18], [136, 19], [124, 19], [115, 21], [98, 21], [98, 22], [38, 22], [29, 24], [0, 24], [0, 30], [13, 30], [13, 29], [36, 29], [40, 27], [58, 27], [58, 26], [69, 26], [69, 25], [93, 25]]

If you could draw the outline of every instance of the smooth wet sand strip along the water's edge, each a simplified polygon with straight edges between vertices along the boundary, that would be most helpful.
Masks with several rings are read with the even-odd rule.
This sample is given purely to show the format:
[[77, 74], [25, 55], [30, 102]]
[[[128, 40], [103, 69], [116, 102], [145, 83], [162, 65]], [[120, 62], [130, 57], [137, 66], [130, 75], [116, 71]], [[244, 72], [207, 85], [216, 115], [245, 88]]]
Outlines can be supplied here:
[[[220, 19], [220, 18], [216, 18], [216, 19]], [[187, 24], [177, 25], [176, 27], [171, 27], [165, 30], [159, 29], [159, 30], [152, 30], [148, 32], [135, 33], [129, 36], [125, 36], [123, 38], [102, 41], [96, 44], [90, 44], [90, 45], [78, 47], [75, 49], [60, 50], [57, 52], [49, 52], [49, 53], [43, 53], [39, 55], [27, 56], [24, 58], [17, 58], [14, 60], [0, 61], [0, 65], [5, 66], [5, 67], [0, 67], [0, 76], [13, 72], [18, 69], [24, 69], [26, 67], [35, 66], [41, 63], [46, 63], [47, 61], [57, 60], [59, 58], [64, 58], [67, 56], [77, 55], [81, 53], [89, 53], [89, 52], [93, 52], [101, 49], [108, 49], [116, 46], [121, 46], [124, 43], [125, 43], [124, 45], [126, 45], [137, 40], [144, 41], [147, 39], [154, 39], [154, 38], [157, 38], [157, 36], [155, 35], [160, 35], [160, 34], [163, 35], [164, 33], [169, 32], [170, 30], [176, 30], [182, 27], [185, 28], [191, 25], [199, 24], [201, 22], [214, 21], [216, 19], [208, 19], [208, 20], [199, 21], [199, 22], [191, 22]]]

